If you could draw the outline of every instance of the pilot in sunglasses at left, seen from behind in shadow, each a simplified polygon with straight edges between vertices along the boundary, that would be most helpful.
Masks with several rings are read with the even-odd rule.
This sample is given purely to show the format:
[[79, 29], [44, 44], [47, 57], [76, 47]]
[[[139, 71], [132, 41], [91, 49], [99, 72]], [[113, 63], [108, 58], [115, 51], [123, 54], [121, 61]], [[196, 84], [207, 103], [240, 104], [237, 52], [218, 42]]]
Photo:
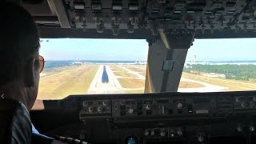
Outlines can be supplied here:
[[0, 15], [0, 143], [63, 143], [32, 134], [28, 111], [37, 98], [44, 66], [38, 53], [37, 26], [30, 14], [14, 3], [2, 2]]

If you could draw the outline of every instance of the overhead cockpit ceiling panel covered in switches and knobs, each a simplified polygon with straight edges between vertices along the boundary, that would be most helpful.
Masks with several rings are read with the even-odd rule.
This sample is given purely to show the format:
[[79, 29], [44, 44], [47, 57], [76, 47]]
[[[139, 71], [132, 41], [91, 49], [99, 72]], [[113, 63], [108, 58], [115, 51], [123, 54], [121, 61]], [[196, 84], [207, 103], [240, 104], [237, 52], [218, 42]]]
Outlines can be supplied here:
[[46, 3], [45, 11], [35, 10], [38, 4], [25, 5], [39, 20], [58, 16], [58, 22], [38, 20], [45, 38], [154, 38], [159, 29], [196, 33], [195, 38], [256, 37], [254, 0], [63, 0], [62, 5], [47, 0], [41, 5]]

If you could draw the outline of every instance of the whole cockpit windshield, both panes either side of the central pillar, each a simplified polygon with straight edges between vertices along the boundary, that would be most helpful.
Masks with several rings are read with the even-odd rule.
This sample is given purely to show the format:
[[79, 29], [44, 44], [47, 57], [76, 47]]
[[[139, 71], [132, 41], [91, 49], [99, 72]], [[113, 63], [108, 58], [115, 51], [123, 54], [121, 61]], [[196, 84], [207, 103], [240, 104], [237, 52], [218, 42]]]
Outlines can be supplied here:
[[[255, 90], [255, 40], [196, 39], [178, 91]], [[38, 99], [144, 93], [148, 50], [146, 40], [42, 38], [40, 54], [46, 63]]]

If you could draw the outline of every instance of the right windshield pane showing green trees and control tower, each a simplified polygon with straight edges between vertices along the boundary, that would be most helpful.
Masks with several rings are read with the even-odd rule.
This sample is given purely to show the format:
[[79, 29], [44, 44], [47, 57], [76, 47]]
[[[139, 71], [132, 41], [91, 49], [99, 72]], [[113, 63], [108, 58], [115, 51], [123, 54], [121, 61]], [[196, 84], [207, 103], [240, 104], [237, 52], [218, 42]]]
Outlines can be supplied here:
[[196, 39], [179, 92], [256, 90], [256, 38]]

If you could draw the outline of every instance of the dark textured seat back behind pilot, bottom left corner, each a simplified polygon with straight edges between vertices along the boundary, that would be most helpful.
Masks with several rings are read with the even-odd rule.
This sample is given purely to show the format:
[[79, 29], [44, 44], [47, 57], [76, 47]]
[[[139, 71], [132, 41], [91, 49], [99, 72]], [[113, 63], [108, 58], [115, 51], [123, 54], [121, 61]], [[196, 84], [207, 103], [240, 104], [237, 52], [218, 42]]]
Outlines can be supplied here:
[[0, 97], [0, 143], [30, 144], [32, 125], [22, 102]]

